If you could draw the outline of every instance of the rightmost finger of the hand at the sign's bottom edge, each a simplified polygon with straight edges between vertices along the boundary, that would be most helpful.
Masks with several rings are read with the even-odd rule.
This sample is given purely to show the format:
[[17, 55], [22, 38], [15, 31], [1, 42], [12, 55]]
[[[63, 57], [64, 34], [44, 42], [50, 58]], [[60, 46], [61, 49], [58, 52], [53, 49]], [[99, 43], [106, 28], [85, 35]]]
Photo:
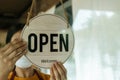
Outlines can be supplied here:
[[61, 76], [61, 79], [66, 80], [67, 77], [66, 77], [66, 71], [65, 71], [64, 66], [59, 62], [56, 62], [55, 66], [57, 67], [57, 70], [58, 70], [58, 72], [59, 72], [59, 74]]

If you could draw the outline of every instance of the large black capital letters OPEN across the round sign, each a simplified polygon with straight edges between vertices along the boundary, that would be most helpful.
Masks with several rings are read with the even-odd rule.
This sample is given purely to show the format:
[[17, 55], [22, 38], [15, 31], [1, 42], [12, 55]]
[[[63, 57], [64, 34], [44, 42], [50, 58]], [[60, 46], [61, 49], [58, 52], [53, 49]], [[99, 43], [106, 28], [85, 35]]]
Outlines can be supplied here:
[[[42, 32], [42, 31], [41, 31]], [[65, 38], [64, 38], [65, 36]], [[49, 40], [50, 39], [50, 40]], [[58, 41], [55, 39], [59, 39]], [[37, 35], [36, 33], [30, 33], [28, 35], [28, 50], [30, 52], [44, 52], [46, 49], [44, 46], [48, 46], [50, 44], [48, 50], [49, 52], [62, 52], [63, 47], [65, 51], [69, 51], [69, 34], [58, 34], [58, 33], [40, 33]], [[33, 45], [31, 44], [33, 43]], [[54, 47], [58, 45], [58, 47]]]

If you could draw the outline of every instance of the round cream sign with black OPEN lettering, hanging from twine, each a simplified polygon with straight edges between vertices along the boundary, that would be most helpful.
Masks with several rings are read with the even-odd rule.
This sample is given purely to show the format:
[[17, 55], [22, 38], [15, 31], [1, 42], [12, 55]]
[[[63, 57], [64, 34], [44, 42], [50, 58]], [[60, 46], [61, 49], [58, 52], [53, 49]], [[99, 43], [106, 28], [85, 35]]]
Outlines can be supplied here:
[[49, 68], [55, 61], [65, 62], [72, 54], [74, 36], [67, 22], [56, 15], [39, 15], [25, 26], [22, 38], [28, 42], [26, 57], [35, 65]]

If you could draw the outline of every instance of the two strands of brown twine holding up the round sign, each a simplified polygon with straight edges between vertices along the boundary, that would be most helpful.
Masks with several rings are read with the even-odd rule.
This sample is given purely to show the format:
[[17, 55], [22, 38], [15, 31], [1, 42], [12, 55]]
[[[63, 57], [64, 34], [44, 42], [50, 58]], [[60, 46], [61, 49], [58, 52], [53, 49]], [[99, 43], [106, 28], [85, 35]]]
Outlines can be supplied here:
[[[64, 10], [64, 17], [65, 19], [67, 20], [67, 28], [69, 27], [69, 22], [68, 22], [68, 17], [67, 17], [67, 13], [65, 11], [65, 7], [64, 7], [64, 3], [63, 3], [63, 0], [60, 0], [61, 4], [62, 4], [62, 7], [63, 7], [63, 10]], [[32, 16], [32, 11], [34, 9], [34, 6], [35, 6], [35, 0], [32, 0], [32, 4], [31, 4], [31, 7], [30, 7], [30, 11], [28, 12], [28, 15], [27, 15], [27, 20], [26, 20], [26, 25], [28, 26], [29, 25], [29, 21], [30, 21], [30, 18]]]

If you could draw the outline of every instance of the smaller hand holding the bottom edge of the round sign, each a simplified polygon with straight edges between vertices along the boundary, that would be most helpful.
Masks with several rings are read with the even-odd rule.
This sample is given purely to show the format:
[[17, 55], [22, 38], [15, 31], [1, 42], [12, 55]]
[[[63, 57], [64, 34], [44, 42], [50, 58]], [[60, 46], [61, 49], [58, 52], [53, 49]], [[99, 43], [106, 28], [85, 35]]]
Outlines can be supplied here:
[[50, 80], [67, 80], [67, 71], [61, 62], [56, 62], [52, 65]]

